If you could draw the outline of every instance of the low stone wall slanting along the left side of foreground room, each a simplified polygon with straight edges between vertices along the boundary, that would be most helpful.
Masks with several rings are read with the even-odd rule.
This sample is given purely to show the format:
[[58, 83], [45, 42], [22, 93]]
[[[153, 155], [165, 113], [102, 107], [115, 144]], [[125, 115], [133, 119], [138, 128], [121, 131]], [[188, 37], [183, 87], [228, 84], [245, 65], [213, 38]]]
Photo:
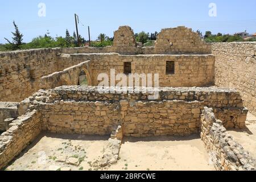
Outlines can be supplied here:
[[41, 131], [40, 113], [36, 110], [18, 117], [0, 136], [0, 169], [34, 140]]

